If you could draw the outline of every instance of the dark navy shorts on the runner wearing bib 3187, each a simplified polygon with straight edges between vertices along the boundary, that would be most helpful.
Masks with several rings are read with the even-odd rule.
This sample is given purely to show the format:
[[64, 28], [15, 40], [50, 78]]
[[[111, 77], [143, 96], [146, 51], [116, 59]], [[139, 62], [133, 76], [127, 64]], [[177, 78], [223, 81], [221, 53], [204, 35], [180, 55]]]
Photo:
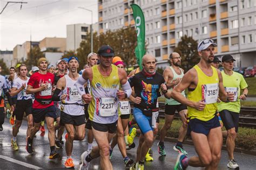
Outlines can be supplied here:
[[217, 115], [215, 115], [209, 121], [201, 121], [194, 118], [188, 123], [187, 134], [190, 134], [191, 131], [193, 131], [195, 133], [203, 133], [207, 136], [211, 129], [218, 128], [219, 126], [220, 121]]

